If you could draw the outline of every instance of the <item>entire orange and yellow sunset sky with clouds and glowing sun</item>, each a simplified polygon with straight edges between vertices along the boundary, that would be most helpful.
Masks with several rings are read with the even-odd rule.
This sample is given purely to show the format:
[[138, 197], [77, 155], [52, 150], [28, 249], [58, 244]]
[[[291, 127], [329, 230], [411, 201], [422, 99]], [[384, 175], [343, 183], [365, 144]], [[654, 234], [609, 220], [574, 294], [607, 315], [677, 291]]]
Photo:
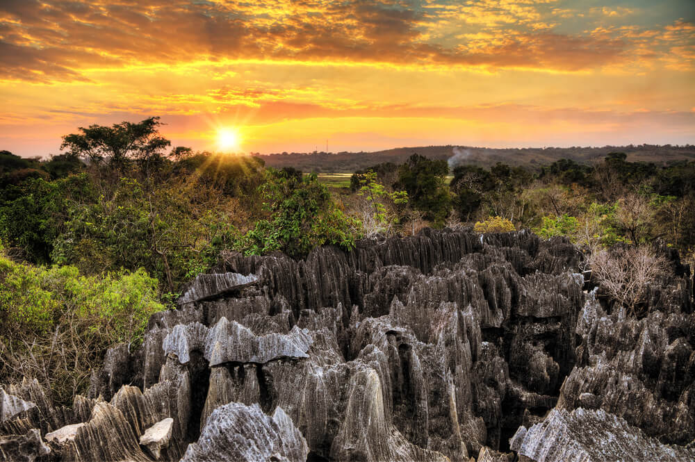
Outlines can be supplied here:
[[0, 149], [695, 143], [695, 1], [0, 0]]

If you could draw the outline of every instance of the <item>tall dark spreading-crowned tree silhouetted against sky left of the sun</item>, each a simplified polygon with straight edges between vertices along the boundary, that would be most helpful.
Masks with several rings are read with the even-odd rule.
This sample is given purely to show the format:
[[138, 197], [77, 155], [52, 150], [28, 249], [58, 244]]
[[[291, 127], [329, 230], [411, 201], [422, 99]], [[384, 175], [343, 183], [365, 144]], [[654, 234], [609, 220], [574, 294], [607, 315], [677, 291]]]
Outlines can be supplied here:
[[92, 163], [108, 160], [110, 165], [124, 167], [131, 159], [148, 164], [161, 157], [171, 142], [159, 135], [160, 117], [149, 117], [139, 124], [121, 122], [113, 126], [90, 125], [79, 127], [81, 133], [63, 137], [60, 149], [72, 156], [83, 157]]

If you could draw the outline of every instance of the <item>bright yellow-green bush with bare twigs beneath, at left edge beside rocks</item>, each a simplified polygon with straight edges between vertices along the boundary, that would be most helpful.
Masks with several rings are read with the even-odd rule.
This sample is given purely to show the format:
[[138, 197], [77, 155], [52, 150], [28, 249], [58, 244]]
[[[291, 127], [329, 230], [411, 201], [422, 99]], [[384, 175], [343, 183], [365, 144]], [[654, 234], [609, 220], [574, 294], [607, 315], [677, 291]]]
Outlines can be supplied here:
[[58, 402], [88, 386], [90, 369], [117, 343], [136, 347], [158, 302], [145, 270], [86, 277], [0, 255], [0, 380], [36, 378]]

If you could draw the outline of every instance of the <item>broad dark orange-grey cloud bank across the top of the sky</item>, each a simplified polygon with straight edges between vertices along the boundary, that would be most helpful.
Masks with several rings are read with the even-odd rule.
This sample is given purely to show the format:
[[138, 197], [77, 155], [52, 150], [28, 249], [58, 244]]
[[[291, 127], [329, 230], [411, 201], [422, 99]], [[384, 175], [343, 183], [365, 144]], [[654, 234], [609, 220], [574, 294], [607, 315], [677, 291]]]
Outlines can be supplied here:
[[[594, 10], [609, 18], [633, 13]], [[554, 31], [570, 11], [552, 0], [7, 0], [0, 65], [4, 79], [28, 81], [78, 81], [95, 67], [252, 58], [575, 72], [625, 58], [635, 34], [648, 32], [601, 38]], [[684, 47], [691, 28], [682, 21], [660, 33]]]

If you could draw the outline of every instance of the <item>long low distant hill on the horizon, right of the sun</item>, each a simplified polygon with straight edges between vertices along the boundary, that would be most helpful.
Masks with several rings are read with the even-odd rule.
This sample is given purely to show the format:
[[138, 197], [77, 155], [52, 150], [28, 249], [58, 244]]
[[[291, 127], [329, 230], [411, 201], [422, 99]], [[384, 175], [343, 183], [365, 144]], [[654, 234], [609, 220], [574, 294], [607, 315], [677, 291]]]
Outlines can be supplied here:
[[630, 162], [669, 163], [676, 160], [695, 160], [695, 146], [628, 145], [604, 147], [546, 147], [493, 149], [468, 146], [420, 146], [399, 147], [373, 152], [329, 152], [283, 153], [260, 156], [268, 167], [295, 167], [303, 172], [351, 173], [371, 167], [377, 163], [403, 163], [414, 153], [432, 159], [448, 160], [452, 163], [475, 164], [489, 167], [498, 162], [509, 165], [543, 165], [561, 158], [578, 163], [591, 164], [603, 159], [611, 152], [624, 152]]

